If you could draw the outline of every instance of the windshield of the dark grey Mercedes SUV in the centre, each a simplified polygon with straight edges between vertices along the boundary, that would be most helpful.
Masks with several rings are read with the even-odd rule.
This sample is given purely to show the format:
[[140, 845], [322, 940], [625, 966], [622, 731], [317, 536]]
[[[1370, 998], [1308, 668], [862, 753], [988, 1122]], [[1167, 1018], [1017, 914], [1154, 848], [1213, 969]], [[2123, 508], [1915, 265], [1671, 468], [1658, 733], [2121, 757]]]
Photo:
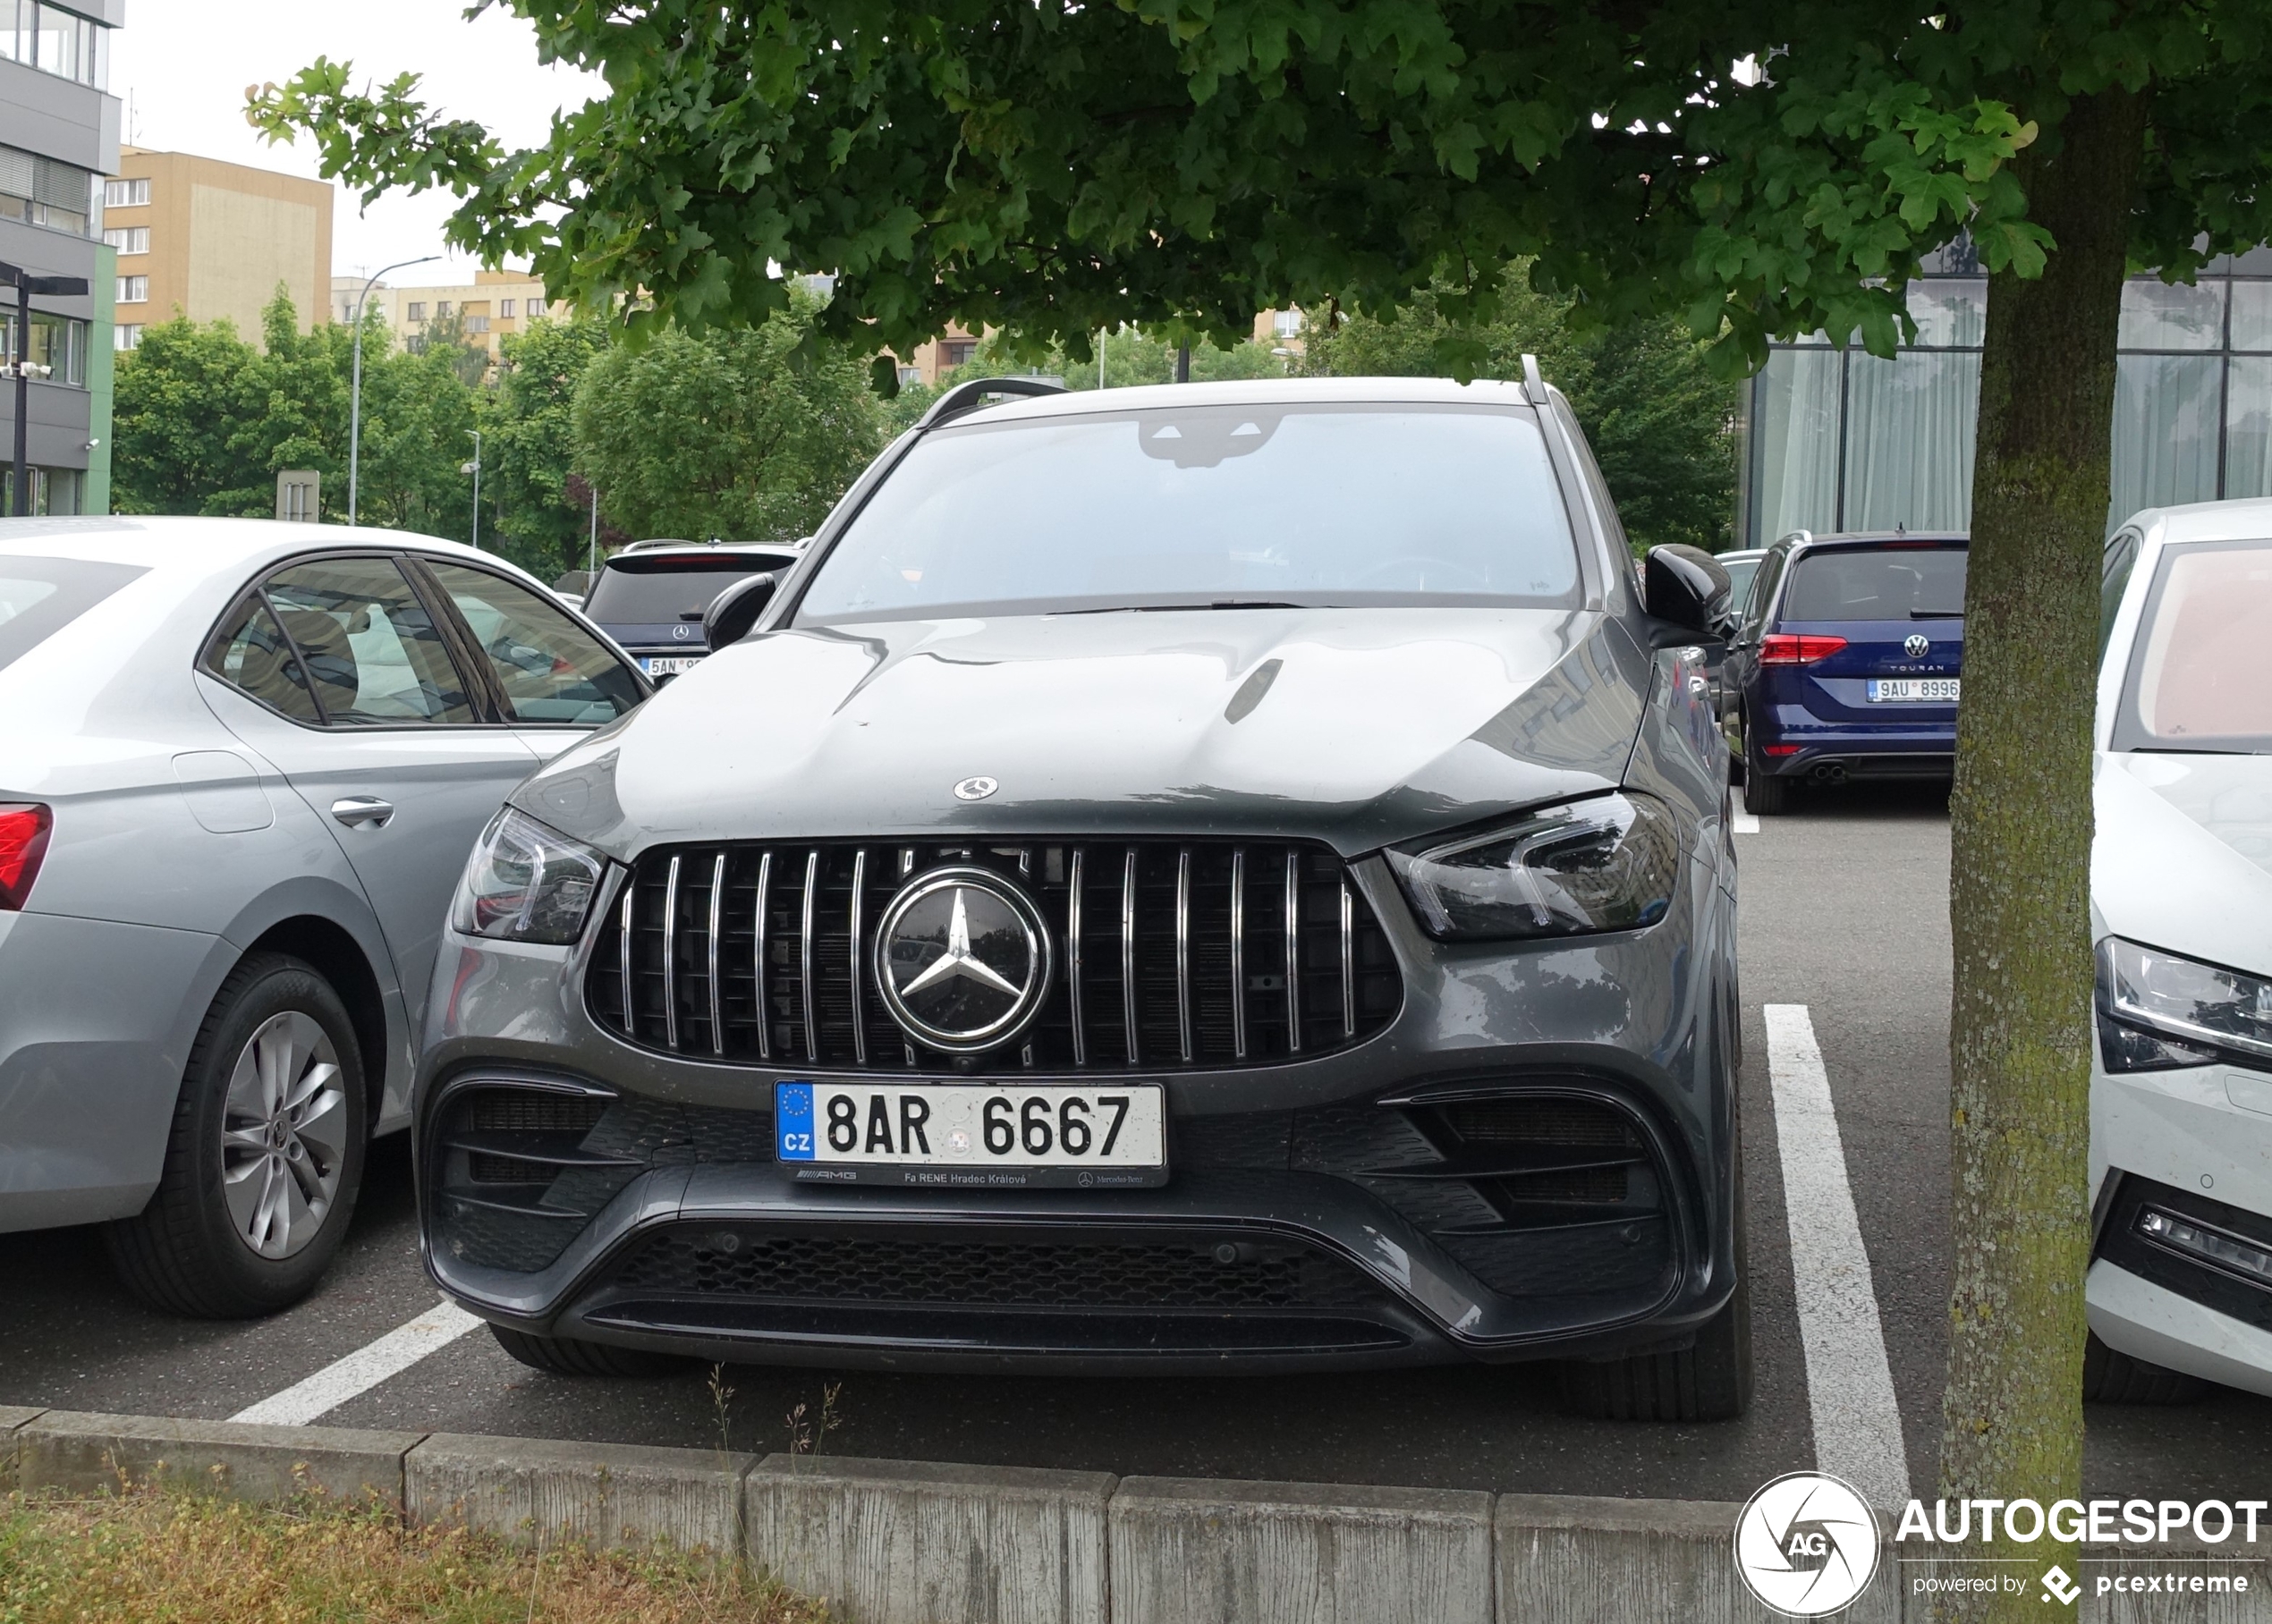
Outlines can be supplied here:
[[1168, 407], [927, 434], [800, 625], [1216, 604], [1574, 604], [1538, 425], [1472, 407]]

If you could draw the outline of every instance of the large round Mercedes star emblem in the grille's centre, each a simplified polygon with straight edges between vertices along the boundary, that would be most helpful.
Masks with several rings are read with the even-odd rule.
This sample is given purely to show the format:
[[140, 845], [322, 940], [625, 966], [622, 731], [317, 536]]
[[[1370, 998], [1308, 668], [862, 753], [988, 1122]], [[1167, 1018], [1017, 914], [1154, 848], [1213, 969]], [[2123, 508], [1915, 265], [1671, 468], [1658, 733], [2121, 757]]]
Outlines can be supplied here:
[[1050, 927], [1002, 874], [934, 868], [884, 909], [875, 986], [900, 1029], [927, 1049], [997, 1049], [1050, 995]]

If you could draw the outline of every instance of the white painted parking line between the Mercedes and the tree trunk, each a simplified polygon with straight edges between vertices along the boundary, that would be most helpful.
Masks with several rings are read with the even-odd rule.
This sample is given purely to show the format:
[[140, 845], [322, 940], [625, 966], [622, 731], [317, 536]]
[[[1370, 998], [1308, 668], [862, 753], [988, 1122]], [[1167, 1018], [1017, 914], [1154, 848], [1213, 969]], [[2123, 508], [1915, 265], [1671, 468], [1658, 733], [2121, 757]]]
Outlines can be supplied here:
[[1899, 1508], [1908, 1501], [1908, 1451], [1829, 1074], [1806, 1004], [1768, 1004], [1765, 1015], [1815, 1467], [1843, 1476], [1872, 1506]]

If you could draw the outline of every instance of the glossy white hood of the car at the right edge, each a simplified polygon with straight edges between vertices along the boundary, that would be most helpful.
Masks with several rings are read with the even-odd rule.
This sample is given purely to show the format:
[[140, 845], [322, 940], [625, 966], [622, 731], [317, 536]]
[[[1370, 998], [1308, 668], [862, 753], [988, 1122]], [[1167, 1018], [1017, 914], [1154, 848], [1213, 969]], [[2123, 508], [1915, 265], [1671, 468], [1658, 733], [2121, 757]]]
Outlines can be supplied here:
[[2272, 974], [2272, 756], [2104, 752], [2093, 800], [2102, 934]]

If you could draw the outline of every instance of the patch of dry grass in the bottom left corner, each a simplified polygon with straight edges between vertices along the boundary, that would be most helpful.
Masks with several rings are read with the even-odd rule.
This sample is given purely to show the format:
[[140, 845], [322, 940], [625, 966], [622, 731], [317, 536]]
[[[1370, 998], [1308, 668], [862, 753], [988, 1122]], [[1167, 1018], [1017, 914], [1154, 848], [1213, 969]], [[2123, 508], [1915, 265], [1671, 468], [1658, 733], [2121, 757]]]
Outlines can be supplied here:
[[0, 1624], [825, 1624], [668, 1549], [518, 1551], [393, 1510], [186, 1492], [0, 1497]]

